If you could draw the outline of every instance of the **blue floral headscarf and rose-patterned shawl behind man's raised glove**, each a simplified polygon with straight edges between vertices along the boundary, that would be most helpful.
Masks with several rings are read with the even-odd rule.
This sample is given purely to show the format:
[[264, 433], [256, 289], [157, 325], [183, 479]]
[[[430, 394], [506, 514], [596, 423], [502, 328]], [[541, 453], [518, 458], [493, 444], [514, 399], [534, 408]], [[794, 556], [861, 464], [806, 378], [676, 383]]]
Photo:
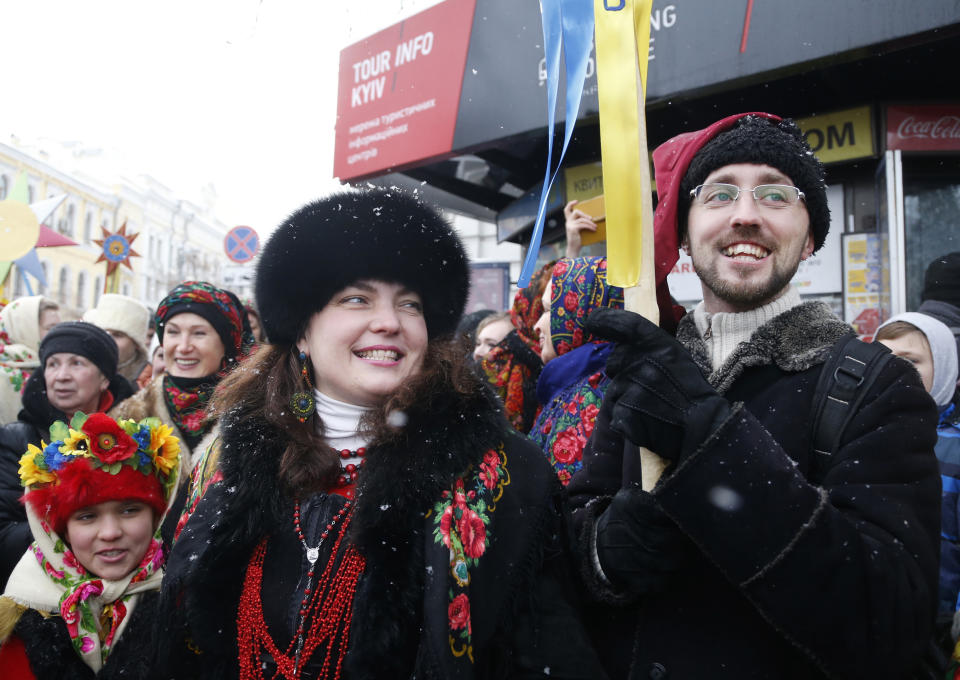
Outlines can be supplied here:
[[583, 466], [583, 448], [593, 433], [608, 379], [603, 373], [610, 343], [584, 328], [601, 307], [623, 308], [623, 289], [607, 284], [602, 257], [562, 259], [553, 268], [550, 339], [557, 358], [537, 381], [542, 409], [530, 430], [566, 486]]

